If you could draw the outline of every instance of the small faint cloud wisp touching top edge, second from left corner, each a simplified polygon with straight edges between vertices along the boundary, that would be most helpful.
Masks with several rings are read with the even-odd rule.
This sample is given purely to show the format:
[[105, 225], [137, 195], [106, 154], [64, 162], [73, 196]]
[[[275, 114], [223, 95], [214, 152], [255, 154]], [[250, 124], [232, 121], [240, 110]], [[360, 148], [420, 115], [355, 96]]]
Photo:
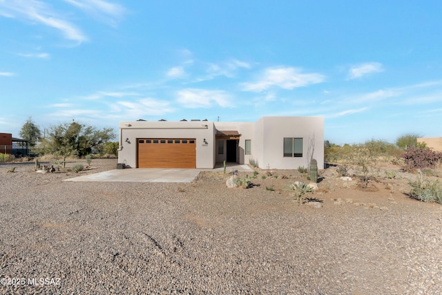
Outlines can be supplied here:
[[103, 0], [64, 0], [83, 10], [88, 15], [115, 26], [119, 19], [126, 14], [126, 8], [118, 3]]

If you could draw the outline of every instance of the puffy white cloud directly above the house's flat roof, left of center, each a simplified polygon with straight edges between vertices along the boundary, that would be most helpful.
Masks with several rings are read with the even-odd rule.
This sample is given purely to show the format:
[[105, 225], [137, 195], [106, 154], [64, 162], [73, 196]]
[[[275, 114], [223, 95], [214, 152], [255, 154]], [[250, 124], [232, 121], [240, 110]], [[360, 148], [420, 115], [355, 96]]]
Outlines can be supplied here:
[[232, 106], [230, 97], [224, 91], [186, 88], [177, 92], [177, 102], [184, 108], [210, 108], [213, 104], [222, 107]]

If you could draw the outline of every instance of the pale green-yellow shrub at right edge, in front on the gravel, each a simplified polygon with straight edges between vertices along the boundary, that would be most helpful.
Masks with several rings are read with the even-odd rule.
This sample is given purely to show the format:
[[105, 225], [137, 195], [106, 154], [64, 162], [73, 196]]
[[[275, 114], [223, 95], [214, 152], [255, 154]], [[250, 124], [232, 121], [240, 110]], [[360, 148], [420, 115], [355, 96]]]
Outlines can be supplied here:
[[419, 171], [418, 179], [410, 182], [410, 196], [422, 202], [438, 202], [442, 204], [442, 183], [439, 180], [423, 180]]

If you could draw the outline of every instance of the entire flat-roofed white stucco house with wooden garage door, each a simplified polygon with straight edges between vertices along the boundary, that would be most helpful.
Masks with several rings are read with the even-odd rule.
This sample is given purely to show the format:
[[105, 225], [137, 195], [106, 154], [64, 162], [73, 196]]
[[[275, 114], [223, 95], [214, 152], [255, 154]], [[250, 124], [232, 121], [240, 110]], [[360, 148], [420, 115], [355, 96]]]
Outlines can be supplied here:
[[262, 117], [257, 122], [119, 123], [118, 161], [133, 168], [213, 168], [216, 163], [298, 169], [324, 166], [323, 117]]

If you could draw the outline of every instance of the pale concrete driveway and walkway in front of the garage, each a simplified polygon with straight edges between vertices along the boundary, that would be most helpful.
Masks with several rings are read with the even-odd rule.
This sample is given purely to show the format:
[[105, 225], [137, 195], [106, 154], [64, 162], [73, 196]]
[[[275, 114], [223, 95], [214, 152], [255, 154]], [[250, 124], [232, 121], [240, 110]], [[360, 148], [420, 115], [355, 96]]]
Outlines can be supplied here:
[[[114, 169], [100, 173], [82, 175], [64, 181], [97, 181], [97, 182], [191, 182], [201, 171], [222, 171], [224, 168], [215, 166], [214, 169], [153, 169], [132, 168]], [[229, 165], [226, 173], [232, 170], [253, 171], [243, 164]]]

